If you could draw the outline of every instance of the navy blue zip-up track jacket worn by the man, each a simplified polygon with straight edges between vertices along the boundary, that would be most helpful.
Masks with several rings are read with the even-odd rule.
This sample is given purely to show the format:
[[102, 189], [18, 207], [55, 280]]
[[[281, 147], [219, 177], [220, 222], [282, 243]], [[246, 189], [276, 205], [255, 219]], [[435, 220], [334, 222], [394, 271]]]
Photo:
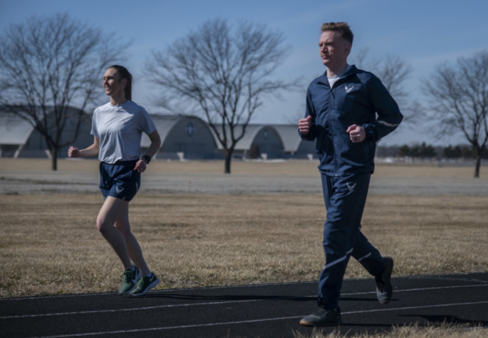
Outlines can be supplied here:
[[[332, 88], [326, 73], [310, 83], [305, 118], [308, 115], [312, 117], [310, 132], [299, 134], [305, 140], [317, 139], [319, 170], [329, 176], [372, 173], [376, 141], [395, 130], [403, 119], [381, 80], [354, 65]], [[352, 124], [365, 128], [363, 142], [349, 139], [346, 129]]]

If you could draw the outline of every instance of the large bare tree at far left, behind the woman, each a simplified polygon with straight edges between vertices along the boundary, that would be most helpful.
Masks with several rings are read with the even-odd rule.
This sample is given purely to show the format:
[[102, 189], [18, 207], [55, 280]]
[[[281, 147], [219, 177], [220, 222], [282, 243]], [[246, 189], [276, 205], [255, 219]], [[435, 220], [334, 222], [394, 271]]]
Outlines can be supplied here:
[[[0, 37], [0, 105], [41, 133], [52, 170], [58, 150], [77, 139], [85, 109], [101, 93], [102, 71], [127, 46], [111, 38], [66, 14], [30, 18]], [[62, 139], [68, 121], [75, 132]]]

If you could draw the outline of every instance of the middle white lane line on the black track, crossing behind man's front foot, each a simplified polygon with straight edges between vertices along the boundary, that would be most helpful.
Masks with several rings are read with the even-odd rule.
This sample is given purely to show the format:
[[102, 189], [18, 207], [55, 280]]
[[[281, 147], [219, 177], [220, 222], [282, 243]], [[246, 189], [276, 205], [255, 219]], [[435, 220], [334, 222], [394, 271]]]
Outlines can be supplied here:
[[[404, 289], [404, 290], [394, 290], [394, 292], [410, 292], [410, 291], [427, 291], [427, 290], [441, 290], [441, 289], [455, 289], [455, 288], [465, 288], [465, 287], [484, 287], [488, 284], [477, 284], [477, 285], [455, 285], [455, 286], [437, 286], [430, 288], [415, 288], [415, 289]], [[376, 291], [368, 292], [354, 292], [341, 294], [341, 297], [345, 296], [358, 296], [358, 295], [368, 295], [376, 294]], [[211, 302], [200, 302], [200, 303], [188, 303], [188, 304], [169, 304], [169, 305], [156, 305], [156, 306], [145, 306], [137, 308], [127, 308], [127, 309], [111, 309], [111, 310], [92, 310], [92, 311], [77, 311], [77, 312], [60, 312], [60, 313], [49, 313], [49, 314], [37, 314], [37, 315], [19, 315], [19, 316], [2, 316], [0, 319], [12, 319], [12, 318], [32, 318], [32, 317], [47, 317], [47, 316], [66, 316], [66, 315], [81, 315], [81, 314], [96, 314], [104, 312], [123, 312], [123, 311], [139, 311], [139, 310], [153, 310], [161, 308], [170, 307], [181, 307], [181, 306], [196, 306], [196, 305], [219, 305], [228, 303], [246, 303], [253, 301], [264, 301], [264, 300], [287, 300], [287, 299], [298, 299], [298, 298], [316, 298], [317, 296], [302, 296], [302, 297], [269, 297], [261, 299], [244, 299], [244, 300], [222, 300], [222, 301], [211, 301]], [[376, 310], [375, 310], [376, 311]]]

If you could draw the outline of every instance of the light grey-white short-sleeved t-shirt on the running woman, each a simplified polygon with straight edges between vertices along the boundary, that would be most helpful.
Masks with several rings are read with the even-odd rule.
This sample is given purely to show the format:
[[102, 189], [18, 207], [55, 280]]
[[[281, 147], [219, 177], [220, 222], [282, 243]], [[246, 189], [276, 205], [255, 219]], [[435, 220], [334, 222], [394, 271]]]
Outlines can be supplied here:
[[149, 135], [155, 130], [146, 110], [132, 101], [118, 106], [108, 102], [93, 112], [91, 134], [100, 139], [102, 162], [140, 159], [142, 132]]

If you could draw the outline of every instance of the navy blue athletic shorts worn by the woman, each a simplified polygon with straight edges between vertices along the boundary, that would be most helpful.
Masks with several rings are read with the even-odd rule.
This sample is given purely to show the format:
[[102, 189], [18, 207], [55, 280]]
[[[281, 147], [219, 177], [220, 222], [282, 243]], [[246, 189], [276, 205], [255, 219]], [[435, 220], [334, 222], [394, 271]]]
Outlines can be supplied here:
[[131, 200], [141, 186], [141, 173], [134, 170], [137, 160], [117, 161], [115, 164], [100, 162], [100, 191], [103, 199], [112, 196]]

